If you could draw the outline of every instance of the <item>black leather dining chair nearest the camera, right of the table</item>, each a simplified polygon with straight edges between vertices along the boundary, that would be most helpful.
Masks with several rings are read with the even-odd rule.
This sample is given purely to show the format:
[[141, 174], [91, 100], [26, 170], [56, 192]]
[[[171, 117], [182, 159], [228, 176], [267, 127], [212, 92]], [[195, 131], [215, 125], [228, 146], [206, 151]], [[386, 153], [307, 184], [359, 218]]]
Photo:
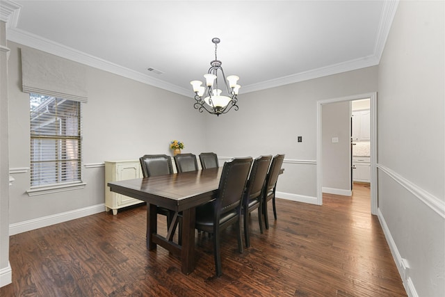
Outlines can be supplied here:
[[195, 209], [195, 228], [212, 234], [216, 276], [220, 276], [220, 231], [236, 224], [238, 251], [243, 252], [241, 238], [241, 200], [248, 180], [252, 158], [235, 158], [224, 163], [216, 199]]

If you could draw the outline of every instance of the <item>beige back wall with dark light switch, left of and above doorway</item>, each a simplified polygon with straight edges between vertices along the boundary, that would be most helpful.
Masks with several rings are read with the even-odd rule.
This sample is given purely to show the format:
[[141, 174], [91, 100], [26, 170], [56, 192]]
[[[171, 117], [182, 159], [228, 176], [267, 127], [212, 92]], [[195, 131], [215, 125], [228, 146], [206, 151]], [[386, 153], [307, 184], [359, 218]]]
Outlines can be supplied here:
[[223, 156], [286, 154], [280, 197], [315, 203], [317, 102], [375, 92], [377, 74], [367, 67], [240, 95], [239, 111], [207, 120], [207, 145]]

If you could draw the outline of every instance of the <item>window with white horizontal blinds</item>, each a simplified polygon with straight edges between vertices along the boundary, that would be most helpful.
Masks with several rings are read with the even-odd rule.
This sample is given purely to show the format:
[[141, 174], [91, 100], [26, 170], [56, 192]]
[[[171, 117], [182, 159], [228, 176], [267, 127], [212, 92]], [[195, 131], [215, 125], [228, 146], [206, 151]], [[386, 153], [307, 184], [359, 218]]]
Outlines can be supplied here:
[[31, 93], [31, 188], [81, 182], [81, 102]]

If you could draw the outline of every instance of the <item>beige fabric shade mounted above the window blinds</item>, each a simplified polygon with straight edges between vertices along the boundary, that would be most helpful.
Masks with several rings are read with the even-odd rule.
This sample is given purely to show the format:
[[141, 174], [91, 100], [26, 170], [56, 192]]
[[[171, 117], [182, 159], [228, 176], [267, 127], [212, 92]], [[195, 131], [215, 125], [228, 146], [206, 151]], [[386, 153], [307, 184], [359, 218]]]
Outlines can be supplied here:
[[23, 47], [22, 88], [25, 93], [87, 102], [86, 67], [44, 51]]

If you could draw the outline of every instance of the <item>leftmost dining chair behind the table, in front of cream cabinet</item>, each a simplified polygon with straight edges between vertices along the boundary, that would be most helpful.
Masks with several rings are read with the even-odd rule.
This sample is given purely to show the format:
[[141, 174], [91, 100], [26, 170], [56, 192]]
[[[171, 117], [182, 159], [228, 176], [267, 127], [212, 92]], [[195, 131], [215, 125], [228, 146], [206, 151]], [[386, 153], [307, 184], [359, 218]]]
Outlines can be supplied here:
[[[172, 158], [166, 154], [145, 154], [139, 158], [139, 161], [143, 177], [173, 174]], [[167, 228], [170, 229], [170, 225], [175, 216], [175, 211], [158, 206], [157, 212], [158, 214], [163, 214], [167, 217]], [[179, 230], [180, 229], [181, 228], [179, 228]]]

